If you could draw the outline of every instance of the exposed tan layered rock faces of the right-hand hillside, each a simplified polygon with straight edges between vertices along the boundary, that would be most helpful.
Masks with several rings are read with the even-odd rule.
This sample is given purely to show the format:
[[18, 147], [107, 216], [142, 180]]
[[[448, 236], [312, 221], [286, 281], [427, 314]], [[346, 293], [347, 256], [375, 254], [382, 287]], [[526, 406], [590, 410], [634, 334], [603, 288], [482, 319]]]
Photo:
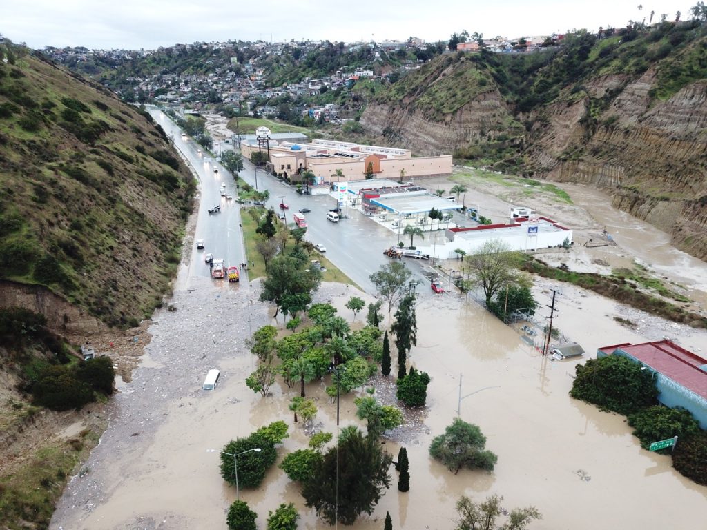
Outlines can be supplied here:
[[660, 75], [652, 66], [638, 76], [590, 76], [525, 113], [514, 112], [500, 90], [477, 95], [442, 120], [425, 118], [414, 105], [379, 101], [361, 124], [418, 153], [452, 153], [491, 143], [490, 131], [495, 138], [522, 122], [526, 131], [516, 136], [522, 171], [607, 189], [615, 207], [707, 259], [707, 80], [658, 100], [652, 93]]

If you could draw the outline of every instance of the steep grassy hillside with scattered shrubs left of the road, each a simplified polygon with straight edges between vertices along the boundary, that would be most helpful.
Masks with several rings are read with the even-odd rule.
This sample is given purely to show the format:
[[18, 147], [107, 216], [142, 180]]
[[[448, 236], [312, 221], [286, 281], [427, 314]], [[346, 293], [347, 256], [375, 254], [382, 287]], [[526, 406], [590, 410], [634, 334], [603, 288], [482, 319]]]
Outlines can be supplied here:
[[136, 324], [174, 276], [192, 176], [146, 112], [21, 48], [4, 51], [0, 278]]

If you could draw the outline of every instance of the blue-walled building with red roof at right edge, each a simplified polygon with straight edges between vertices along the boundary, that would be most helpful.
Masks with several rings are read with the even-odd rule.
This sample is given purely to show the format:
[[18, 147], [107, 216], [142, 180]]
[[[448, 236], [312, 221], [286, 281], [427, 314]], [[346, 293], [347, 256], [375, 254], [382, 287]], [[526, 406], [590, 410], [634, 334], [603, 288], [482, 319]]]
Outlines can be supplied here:
[[[621, 355], [655, 373], [658, 401], [690, 411], [707, 429], [707, 360], [672, 341], [616, 344], [597, 351], [597, 358]], [[656, 440], [658, 441], [658, 440]]]

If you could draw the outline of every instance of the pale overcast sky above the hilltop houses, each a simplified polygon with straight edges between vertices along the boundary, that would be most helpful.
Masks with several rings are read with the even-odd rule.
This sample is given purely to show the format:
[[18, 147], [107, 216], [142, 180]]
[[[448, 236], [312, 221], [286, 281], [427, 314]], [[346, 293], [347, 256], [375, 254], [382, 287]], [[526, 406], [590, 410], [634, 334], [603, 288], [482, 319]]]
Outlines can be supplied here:
[[[639, 10], [639, 4], [643, 9]], [[29, 47], [155, 49], [227, 40], [515, 38], [689, 18], [685, 0], [0, 0], [0, 33]]]

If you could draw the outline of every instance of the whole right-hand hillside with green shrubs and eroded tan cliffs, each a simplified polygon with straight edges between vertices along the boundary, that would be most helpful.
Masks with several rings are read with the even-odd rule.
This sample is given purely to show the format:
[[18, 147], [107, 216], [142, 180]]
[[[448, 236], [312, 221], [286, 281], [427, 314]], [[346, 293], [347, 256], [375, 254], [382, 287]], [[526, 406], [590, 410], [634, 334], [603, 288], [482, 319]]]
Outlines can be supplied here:
[[445, 54], [378, 95], [368, 134], [607, 189], [707, 259], [707, 30], [697, 21], [568, 35], [534, 54]]

